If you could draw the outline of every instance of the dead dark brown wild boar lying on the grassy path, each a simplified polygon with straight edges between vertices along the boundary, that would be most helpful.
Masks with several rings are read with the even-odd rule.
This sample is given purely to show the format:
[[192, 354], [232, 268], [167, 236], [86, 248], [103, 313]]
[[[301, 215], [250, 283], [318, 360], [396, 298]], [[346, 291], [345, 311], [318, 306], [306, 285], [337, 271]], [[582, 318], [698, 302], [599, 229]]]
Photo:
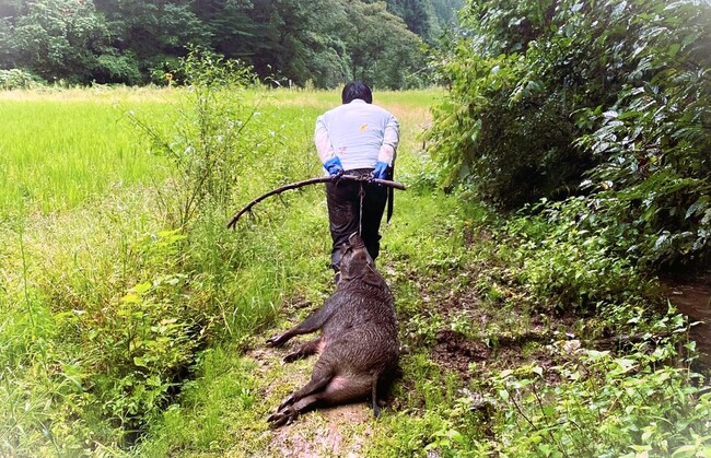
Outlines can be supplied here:
[[292, 392], [267, 421], [272, 427], [293, 422], [317, 404], [368, 399], [380, 415], [377, 394], [398, 369], [399, 343], [395, 304], [385, 280], [373, 267], [362, 238], [350, 236], [341, 247], [341, 278], [336, 292], [302, 324], [267, 340], [281, 345], [298, 334], [322, 331], [300, 345], [285, 362], [319, 353], [308, 381]]

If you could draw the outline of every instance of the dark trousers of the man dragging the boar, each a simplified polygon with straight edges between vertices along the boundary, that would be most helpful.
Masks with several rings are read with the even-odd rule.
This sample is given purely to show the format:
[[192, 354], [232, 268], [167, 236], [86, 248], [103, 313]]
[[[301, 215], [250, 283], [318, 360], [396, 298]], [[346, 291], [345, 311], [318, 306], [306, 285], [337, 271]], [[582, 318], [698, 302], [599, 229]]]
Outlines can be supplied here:
[[[348, 175], [369, 175], [371, 168], [348, 171]], [[363, 209], [361, 220], [361, 186]], [[334, 242], [330, 265], [340, 270], [340, 246], [351, 234], [359, 231], [371, 258], [377, 258], [381, 249], [381, 220], [387, 202], [387, 188], [368, 181], [329, 181], [326, 184], [326, 202], [330, 237]]]

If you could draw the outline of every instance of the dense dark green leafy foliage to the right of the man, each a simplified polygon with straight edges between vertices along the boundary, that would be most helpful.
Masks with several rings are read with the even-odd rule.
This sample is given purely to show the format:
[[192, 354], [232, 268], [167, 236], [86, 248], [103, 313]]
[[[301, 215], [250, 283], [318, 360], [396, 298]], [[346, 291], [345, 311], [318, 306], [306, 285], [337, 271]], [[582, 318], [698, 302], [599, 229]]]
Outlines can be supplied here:
[[709, 3], [469, 1], [465, 12], [430, 131], [444, 183], [506, 209], [579, 196], [557, 218], [646, 265], [708, 257]]

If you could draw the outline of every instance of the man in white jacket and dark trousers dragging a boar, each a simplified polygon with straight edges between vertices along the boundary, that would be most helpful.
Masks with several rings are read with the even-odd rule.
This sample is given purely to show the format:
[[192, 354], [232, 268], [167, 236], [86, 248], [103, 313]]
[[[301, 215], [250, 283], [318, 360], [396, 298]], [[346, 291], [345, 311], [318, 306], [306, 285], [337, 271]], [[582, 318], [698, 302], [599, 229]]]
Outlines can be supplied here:
[[[362, 82], [346, 84], [342, 105], [316, 119], [314, 140], [326, 173], [393, 178], [393, 165], [399, 141], [399, 125], [387, 110], [373, 105], [371, 89]], [[380, 226], [387, 202], [387, 188], [363, 183], [361, 209], [360, 183], [326, 184], [328, 220], [333, 239], [331, 267], [338, 281], [340, 246], [361, 231], [368, 253], [373, 259], [380, 253]]]

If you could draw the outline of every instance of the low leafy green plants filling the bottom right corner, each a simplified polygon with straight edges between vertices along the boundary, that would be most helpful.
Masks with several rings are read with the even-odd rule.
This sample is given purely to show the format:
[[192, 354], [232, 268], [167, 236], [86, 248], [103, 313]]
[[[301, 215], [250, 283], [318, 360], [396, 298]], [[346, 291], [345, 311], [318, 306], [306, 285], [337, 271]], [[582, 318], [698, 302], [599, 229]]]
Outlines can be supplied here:
[[[501, 372], [491, 397], [513, 408], [498, 410], [497, 448], [513, 456], [707, 456], [711, 394], [693, 386], [703, 381], [698, 374], [660, 365], [673, 354], [667, 341]], [[551, 385], [553, 374], [561, 380]]]

